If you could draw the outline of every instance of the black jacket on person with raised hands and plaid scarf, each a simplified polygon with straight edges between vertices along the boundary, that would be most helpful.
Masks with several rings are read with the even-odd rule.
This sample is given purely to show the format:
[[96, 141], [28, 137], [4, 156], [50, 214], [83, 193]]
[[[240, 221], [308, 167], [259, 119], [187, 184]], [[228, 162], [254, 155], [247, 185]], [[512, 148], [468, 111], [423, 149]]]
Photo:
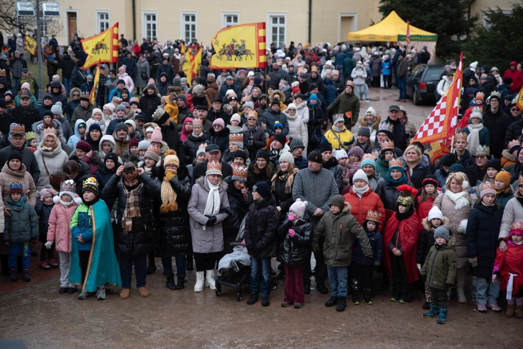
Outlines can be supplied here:
[[102, 195], [105, 197], [118, 197], [118, 206], [116, 210], [116, 241], [120, 253], [128, 255], [138, 255], [148, 253], [153, 250], [153, 237], [148, 236], [145, 227], [149, 229], [153, 224], [151, 215], [152, 200], [160, 196], [162, 187], [151, 177], [142, 173], [139, 177], [139, 183], [144, 183], [139, 193], [140, 217], [132, 218], [132, 229], [128, 233], [123, 232], [122, 218], [126, 208], [127, 196], [123, 193], [123, 180], [120, 176], [114, 175], [107, 182]]

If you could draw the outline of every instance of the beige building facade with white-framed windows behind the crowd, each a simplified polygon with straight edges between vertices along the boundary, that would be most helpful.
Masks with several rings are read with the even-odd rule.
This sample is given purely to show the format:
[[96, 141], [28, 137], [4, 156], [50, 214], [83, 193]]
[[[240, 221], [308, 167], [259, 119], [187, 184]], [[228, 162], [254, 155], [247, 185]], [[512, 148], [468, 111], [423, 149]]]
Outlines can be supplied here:
[[[379, 0], [203, 0], [170, 2], [165, 0], [60, 0], [60, 22], [64, 31], [57, 39], [64, 45], [71, 42], [74, 33], [87, 38], [116, 22], [126, 39], [152, 37], [167, 39], [197, 39], [210, 45], [221, 28], [252, 22], [266, 22], [267, 43], [278, 46], [290, 41], [344, 41], [347, 33], [365, 29], [371, 22], [379, 22]], [[311, 6], [311, 10], [309, 10]], [[472, 0], [471, 15], [499, 6], [511, 8], [511, 0]], [[311, 16], [309, 18], [309, 13]], [[309, 29], [309, 21], [311, 23]]]

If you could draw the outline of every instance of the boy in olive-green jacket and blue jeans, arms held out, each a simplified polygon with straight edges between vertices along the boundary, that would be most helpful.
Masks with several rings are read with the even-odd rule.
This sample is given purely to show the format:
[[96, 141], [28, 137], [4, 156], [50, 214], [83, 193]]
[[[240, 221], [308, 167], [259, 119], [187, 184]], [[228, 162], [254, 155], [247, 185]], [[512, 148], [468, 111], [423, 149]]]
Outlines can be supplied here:
[[323, 255], [327, 264], [328, 282], [331, 284], [331, 298], [326, 301], [325, 306], [332, 307], [337, 304], [336, 311], [344, 311], [347, 307], [347, 267], [351, 261], [353, 236], [360, 241], [365, 257], [372, 258], [372, 248], [367, 233], [350, 214], [350, 205], [342, 195], [334, 196], [329, 207], [331, 211], [322, 216], [314, 229], [312, 250], [320, 251], [318, 241], [325, 234]]

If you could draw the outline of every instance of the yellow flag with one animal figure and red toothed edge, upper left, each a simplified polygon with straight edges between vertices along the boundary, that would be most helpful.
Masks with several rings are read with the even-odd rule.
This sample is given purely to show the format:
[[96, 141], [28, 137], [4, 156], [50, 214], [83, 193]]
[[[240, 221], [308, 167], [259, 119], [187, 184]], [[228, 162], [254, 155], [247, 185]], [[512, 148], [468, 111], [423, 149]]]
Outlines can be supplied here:
[[118, 62], [118, 48], [120, 45], [120, 40], [118, 40], [118, 22], [111, 28], [80, 41], [82, 42], [84, 52], [87, 53], [87, 59], [83, 66], [84, 69], [92, 67], [99, 62]]

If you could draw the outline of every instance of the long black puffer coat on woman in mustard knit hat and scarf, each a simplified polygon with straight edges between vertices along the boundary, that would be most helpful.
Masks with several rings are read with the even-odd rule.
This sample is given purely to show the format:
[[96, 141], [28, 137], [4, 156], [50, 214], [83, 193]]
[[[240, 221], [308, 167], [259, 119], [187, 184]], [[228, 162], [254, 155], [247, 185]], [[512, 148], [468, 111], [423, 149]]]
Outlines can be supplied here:
[[[163, 165], [156, 169], [154, 182], [161, 188], [165, 169]], [[154, 199], [154, 219], [158, 228], [156, 252], [161, 257], [175, 257], [192, 253], [191, 231], [187, 203], [191, 196], [190, 178], [186, 167], [178, 168], [178, 178], [173, 177], [169, 184], [176, 192], [176, 211], [162, 210], [162, 197]]]

